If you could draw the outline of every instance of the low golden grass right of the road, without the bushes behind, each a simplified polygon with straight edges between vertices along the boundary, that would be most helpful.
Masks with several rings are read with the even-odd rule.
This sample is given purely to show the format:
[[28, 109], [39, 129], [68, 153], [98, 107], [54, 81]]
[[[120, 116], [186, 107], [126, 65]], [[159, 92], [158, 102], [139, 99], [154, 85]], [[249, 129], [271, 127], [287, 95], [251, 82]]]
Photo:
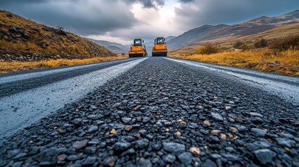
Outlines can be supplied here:
[[[192, 61], [216, 63], [234, 67], [244, 67], [253, 70], [276, 72], [299, 76], [299, 51], [275, 52], [270, 49], [254, 49], [250, 51], [223, 51], [217, 54], [201, 55], [173, 54], [174, 58], [182, 58]], [[277, 61], [277, 64], [273, 64]]]

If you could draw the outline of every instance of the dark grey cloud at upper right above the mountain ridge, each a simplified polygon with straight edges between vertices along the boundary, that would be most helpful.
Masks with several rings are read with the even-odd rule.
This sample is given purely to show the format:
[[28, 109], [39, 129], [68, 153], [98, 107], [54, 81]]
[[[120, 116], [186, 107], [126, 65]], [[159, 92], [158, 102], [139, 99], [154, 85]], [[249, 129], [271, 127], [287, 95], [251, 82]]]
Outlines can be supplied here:
[[298, 8], [298, 0], [194, 0], [176, 8], [176, 21], [182, 23], [181, 27], [190, 29], [204, 24], [236, 24], [263, 15], [289, 13]]

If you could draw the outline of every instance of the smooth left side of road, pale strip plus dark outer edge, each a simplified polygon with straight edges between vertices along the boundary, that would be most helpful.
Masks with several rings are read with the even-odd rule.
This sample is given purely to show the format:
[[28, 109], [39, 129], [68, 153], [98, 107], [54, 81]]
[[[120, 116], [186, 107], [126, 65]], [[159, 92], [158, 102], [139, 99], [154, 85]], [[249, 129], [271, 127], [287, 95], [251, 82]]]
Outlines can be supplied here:
[[44, 118], [134, 67], [144, 58], [0, 77], [0, 136]]

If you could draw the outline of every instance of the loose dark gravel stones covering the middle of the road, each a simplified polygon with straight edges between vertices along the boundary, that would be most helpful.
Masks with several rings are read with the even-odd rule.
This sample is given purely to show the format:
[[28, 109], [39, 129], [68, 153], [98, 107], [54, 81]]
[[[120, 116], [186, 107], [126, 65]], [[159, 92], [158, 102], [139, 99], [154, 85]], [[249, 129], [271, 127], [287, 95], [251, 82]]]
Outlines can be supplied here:
[[0, 142], [0, 166], [299, 166], [298, 107], [148, 58]]

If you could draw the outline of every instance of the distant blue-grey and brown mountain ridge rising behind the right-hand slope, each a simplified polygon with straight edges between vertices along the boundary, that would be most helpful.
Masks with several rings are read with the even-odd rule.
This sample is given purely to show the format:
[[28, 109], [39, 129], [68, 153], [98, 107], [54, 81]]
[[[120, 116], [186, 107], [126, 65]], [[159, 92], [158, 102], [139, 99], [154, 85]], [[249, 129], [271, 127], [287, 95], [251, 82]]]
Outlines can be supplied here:
[[225, 40], [229, 38], [238, 38], [246, 35], [254, 35], [273, 29], [278, 26], [294, 24], [299, 22], [299, 10], [295, 10], [285, 15], [277, 17], [259, 17], [251, 19], [242, 24], [217, 26], [204, 25], [195, 29], [191, 29], [172, 38], [167, 42], [169, 48], [186, 47], [193, 45], [201, 45], [211, 40]]

